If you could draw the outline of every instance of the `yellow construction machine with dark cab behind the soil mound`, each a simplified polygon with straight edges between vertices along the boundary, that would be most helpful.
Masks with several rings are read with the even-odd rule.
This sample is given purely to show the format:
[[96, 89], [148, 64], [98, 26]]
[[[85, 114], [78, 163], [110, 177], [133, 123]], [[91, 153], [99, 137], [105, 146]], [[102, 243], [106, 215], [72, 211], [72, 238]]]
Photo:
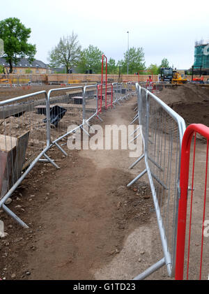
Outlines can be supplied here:
[[187, 79], [183, 78], [173, 68], [160, 68], [160, 80], [162, 82], [170, 82], [171, 84], [185, 84], [187, 82]]

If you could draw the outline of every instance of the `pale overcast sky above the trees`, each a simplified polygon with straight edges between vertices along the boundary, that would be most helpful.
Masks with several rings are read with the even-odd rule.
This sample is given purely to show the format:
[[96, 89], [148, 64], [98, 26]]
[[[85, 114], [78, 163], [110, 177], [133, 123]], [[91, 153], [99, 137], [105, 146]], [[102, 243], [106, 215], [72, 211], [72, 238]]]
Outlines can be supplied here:
[[130, 47], [143, 47], [146, 66], [166, 57], [179, 69], [194, 63], [194, 42], [209, 39], [208, 0], [10, 0], [0, 10], [0, 20], [7, 17], [31, 28], [36, 59], [44, 62], [72, 31], [82, 48], [98, 46], [116, 61], [123, 59], [129, 35]]

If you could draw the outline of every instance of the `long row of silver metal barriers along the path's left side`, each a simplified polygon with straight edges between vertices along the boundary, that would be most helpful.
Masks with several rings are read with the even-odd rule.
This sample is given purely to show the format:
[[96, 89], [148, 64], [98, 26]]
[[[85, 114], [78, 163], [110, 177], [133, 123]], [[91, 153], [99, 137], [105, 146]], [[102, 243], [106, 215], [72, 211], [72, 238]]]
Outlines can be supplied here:
[[[105, 105], [110, 107], [127, 98], [126, 94], [120, 96], [121, 93], [118, 93], [122, 84], [111, 84], [111, 103], [101, 99], [99, 108], [100, 88], [100, 84], [64, 87], [0, 102], [0, 207], [24, 228], [28, 226], [8, 209], [6, 200], [38, 161], [47, 161], [59, 168], [47, 155], [49, 149], [55, 145], [67, 156], [59, 142], [67, 140], [69, 135], [81, 128], [89, 135], [89, 122], [93, 117], [102, 121], [100, 113]], [[52, 92], [59, 91], [66, 91], [67, 94], [52, 97]], [[75, 128], [69, 130], [72, 124]]]

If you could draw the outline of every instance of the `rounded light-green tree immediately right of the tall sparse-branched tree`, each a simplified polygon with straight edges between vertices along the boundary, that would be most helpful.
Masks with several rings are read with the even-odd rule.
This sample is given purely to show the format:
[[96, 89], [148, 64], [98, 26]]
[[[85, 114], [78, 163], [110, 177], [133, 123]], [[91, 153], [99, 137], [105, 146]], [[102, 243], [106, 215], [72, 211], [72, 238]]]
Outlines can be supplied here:
[[102, 51], [93, 45], [89, 45], [88, 48], [82, 50], [78, 64], [79, 72], [85, 73], [86, 71], [91, 70], [93, 73], [101, 73], [102, 54]]

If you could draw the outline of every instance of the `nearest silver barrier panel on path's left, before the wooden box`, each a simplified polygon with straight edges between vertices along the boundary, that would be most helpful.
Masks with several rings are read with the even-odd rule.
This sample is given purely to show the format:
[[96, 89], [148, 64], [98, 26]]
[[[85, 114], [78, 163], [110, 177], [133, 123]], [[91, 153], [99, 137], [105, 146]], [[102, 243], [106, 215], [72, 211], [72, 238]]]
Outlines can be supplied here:
[[[49, 109], [46, 91], [0, 102], [0, 207], [24, 228], [27, 228], [26, 224], [4, 203], [42, 156], [56, 166], [46, 154], [50, 142], [49, 119], [45, 120], [43, 113], [37, 113], [38, 105], [46, 112]], [[48, 113], [46, 115], [49, 117]]]

